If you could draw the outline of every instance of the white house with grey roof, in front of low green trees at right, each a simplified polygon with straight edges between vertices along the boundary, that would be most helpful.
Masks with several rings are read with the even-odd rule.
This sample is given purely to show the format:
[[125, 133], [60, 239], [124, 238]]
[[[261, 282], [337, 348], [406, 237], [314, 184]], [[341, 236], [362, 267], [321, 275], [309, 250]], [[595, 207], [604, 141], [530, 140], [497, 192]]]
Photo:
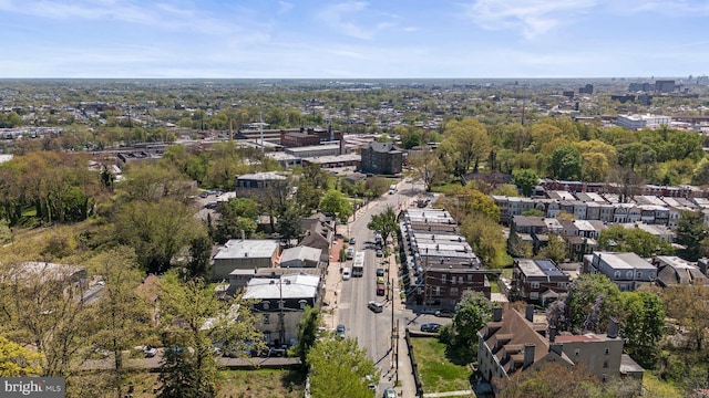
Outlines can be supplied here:
[[621, 292], [655, 283], [657, 268], [636, 253], [594, 252], [584, 255], [584, 273], [604, 274]]

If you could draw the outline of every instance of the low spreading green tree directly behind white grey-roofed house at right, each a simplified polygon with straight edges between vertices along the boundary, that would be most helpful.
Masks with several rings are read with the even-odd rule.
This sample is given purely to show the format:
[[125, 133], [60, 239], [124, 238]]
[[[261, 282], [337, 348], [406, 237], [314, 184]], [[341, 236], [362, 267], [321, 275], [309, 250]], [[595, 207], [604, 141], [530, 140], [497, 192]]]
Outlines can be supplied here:
[[626, 229], [623, 226], [610, 226], [600, 231], [598, 249], [634, 252], [643, 258], [675, 253], [675, 248], [667, 241], [639, 228]]

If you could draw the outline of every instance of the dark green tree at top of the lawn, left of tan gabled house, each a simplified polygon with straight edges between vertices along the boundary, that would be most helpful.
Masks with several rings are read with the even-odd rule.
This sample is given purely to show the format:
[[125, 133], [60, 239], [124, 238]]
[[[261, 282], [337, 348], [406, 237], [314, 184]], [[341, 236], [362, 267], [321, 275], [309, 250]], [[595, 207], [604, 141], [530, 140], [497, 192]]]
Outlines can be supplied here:
[[453, 315], [454, 337], [452, 345], [469, 354], [477, 346], [477, 331], [492, 318], [492, 303], [481, 292], [466, 291], [458, 303]]

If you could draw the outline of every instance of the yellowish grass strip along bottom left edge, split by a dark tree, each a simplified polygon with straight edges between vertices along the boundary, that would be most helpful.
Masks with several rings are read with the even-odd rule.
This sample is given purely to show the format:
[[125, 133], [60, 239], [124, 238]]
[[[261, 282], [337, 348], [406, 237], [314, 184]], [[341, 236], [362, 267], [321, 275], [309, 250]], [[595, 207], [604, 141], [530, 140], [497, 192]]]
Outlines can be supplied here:
[[[156, 373], [140, 373], [129, 378], [134, 386], [134, 398], [155, 397], [160, 387]], [[297, 370], [257, 369], [222, 370], [217, 397], [234, 398], [300, 398], [305, 394], [305, 379]]]

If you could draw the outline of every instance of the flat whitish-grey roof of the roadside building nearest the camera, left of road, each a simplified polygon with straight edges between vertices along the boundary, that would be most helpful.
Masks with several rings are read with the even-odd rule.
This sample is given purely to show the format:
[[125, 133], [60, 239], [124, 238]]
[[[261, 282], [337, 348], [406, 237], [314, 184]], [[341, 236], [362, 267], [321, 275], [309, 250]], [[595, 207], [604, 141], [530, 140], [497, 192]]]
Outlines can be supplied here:
[[318, 293], [320, 276], [284, 275], [280, 279], [254, 277], [246, 285], [244, 298], [307, 298]]

